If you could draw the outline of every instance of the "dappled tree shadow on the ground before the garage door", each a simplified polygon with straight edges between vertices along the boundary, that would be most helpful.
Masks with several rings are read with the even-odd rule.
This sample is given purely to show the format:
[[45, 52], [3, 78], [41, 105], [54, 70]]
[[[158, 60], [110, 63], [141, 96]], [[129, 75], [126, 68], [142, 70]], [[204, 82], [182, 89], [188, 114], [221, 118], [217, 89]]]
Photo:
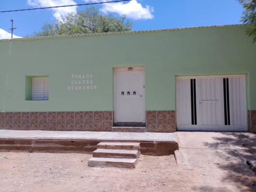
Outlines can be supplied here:
[[[216, 153], [223, 162], [218, 164], [225, 171], [222, 176], [224, 181], [239, 183], [241, 191], [244, 186], [256, 191], [256, 174], [249, 169], [246, 161], [256, 166], [256, 134], [251, 133], [221, 133], [222, 137], [214, 137], [214, 142], [205, 142], [204, 145], [217, 149]], [[201, 187], [199, 191], [225, 191], [221, 188]], [[247, 191], [247, 190], [246, 190]]]

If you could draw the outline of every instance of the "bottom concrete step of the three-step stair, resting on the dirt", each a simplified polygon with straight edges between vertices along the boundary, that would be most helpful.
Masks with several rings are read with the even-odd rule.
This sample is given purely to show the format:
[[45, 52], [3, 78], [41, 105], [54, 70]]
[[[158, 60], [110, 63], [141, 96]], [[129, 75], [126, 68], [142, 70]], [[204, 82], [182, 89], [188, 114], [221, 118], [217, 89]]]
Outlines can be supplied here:
[[99, 167], [125, 167], [135, 168], [137, 164], [137, 158], [102, 158], [92, 157], [89, 159], [88, 166], [99, 166]]

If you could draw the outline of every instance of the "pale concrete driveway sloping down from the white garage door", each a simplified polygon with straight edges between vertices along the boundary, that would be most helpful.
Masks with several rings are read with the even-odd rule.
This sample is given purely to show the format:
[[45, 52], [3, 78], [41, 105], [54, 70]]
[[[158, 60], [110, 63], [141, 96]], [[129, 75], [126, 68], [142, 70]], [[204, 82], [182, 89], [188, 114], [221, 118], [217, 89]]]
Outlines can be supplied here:
[[178, 166], [196, 173], [193, 191], [256, 191], [256, 134], [175, 132]]

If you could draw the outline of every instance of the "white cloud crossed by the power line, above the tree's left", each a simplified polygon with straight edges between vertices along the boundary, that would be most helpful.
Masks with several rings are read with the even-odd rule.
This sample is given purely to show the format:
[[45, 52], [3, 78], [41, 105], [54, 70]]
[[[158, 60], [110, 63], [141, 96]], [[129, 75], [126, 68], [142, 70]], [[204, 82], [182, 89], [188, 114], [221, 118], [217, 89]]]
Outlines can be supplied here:
[[[73, 0], [27, 0], [27, 3], [33, 7], [76, 5], [76, 2]], [[67, 15], [68, 13], [76, 13], [76, 8], [76, 6], [70, 6], [52, 9], [53, 17], [61, 20], [61, 17]]]

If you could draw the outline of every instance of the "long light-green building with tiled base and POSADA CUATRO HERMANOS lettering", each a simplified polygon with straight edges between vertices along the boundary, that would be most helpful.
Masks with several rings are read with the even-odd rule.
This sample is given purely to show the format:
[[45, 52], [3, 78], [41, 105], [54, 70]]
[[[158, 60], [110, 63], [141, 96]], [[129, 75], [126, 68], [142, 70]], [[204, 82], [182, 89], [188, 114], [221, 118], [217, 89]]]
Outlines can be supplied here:
[[0, 128], [256, 132], [247, 27], [2, 40]]

